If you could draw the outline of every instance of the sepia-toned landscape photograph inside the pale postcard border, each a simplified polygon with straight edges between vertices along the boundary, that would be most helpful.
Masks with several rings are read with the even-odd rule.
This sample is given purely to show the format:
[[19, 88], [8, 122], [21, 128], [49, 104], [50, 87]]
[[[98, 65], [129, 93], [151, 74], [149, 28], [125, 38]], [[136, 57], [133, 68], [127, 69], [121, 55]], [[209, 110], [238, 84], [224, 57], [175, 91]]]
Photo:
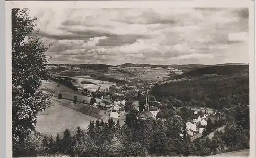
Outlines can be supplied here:
[[248, 7], [78, 7], [11, 9], [13, 157], [251, 156]]

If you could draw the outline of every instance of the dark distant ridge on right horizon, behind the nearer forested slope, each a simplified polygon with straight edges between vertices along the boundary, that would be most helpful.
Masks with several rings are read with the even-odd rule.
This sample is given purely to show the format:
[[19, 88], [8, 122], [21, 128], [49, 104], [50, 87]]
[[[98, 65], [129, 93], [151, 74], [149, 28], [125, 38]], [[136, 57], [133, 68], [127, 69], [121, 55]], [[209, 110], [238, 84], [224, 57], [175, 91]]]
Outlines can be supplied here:
[[249, 65], [215, 65], [210, 67], [203, 67], [174, 76], [170, 79], [182, 79], [186, 77], [201, 76], [204, 74], [231, 75], [240, 72], [249, 72]]

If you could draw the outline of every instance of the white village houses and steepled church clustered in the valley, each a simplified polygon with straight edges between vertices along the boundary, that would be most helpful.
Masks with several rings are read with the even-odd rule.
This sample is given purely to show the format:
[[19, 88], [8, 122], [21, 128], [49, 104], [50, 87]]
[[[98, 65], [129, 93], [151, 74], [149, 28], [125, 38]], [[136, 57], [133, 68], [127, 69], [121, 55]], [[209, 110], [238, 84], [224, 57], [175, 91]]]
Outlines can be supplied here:
[[[139, 110], [139, 102], [137, 100], [129, 99], [127, 100], [126, 97], [124, 97], [123, 100], [114, 101], [112, 98], [108, 96], [101, 96], [100, 98], [102, 100], [101, 105], [105, 107], [105, 115], [109, 116], [110, 118], [116, 118], [120, 120], [125, 120], [126, 114], [128, 113], [127, 106], [129, 108], [133, 108], [134, 110], [138, 111], [137, 119], [147, 119], [147, 118], [153, 118], [153, 119], [160, 119], [157, 118], [157, 114], [161, 111], [158, 107], [150, 106], [148, 102], [150, 101], [149, 96], [146, 95], [146, 100], [144, 104], [143, 111], [140, 112]], [[158, 101], [154, 101], [158, 104], [161, 104]], [[98, 104], [94, 103], [92, 105], [94, 108], [98, 108]], [[126, 108], [127, 107], [127, 108]], [[187, 107], [188, 109], [193, 111], [193, 114], [189, 115], [189, 120], [186, 122], [186, 131], [188, 136], [190, 137], [201, 137], [203, 132], [206, 129], [208, 119], [210, 119], [212, 124], [215, 124], [220, 117], [216, 114], [216, 112], [213, 109], [204, 108], [204, 107]], [[165, 119], [160, 119], [164, 121]], [[180, 136], [183, 137], [184, 129], [181, 128], [181, 134]]]

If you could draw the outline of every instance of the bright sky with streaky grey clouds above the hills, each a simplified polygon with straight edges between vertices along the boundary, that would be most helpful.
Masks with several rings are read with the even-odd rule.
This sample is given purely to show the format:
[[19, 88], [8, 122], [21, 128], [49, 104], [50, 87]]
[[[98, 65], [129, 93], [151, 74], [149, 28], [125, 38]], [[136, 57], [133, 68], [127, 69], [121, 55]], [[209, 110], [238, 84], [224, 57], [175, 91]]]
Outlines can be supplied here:
[[249, 63], [248, 9], [31, 9], [50, 63]]

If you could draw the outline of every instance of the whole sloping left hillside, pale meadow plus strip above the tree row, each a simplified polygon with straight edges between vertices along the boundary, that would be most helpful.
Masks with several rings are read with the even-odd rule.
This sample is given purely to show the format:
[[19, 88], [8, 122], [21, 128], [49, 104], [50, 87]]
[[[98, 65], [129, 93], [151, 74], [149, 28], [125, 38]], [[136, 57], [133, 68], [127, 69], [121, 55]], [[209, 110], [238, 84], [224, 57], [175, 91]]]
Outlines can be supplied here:
[[[77, 126], [86, 130], [90, 120], [96, 121], [99, 118], [107, 121], [109, 119], [108, 116], [104, 115], [105, 111], [87, 106], [90, 104], [91, 97], [81, 95], [66, 86], [60, 85], [58, 87], [57, 85], [52, 80], [42, 82], [41, 89], [43, 91], [53, 92], [51, 99], [53, 106], [38, 114], [36, 129], [39, 132], [56, 136], [59, 132], [62, 134], [67, 128], [71, 133], [74, 133]], [[62, 94], [63, 99], [57, 98], [59, 93]], [[77, 102], [74, 105], [72, 101], [74, 96], [77, 96], [80, 102], [86, 101], [86, 104]], [[96, 101], [99, 103], [101, 99], [96, 98]], [[115, 118], [113, 120], [117, 121]], [[123, 118], [120, 118], [119, 121], [121, 124], [124, 123]]]

